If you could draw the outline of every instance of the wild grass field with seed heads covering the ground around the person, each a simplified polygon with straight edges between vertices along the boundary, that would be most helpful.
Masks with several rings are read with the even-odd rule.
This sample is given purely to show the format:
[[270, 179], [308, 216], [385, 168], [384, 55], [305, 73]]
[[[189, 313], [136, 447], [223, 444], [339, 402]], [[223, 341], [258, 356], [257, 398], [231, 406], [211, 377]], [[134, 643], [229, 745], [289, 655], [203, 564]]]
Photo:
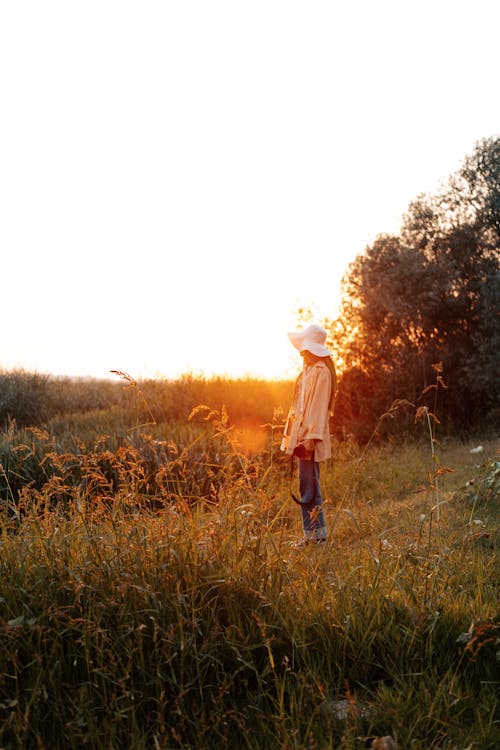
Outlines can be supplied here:
[[288, 385], [125, 384], [0, 433], [1, 748], [499, 746], [493, 438], [336, 441], [297, 548]]

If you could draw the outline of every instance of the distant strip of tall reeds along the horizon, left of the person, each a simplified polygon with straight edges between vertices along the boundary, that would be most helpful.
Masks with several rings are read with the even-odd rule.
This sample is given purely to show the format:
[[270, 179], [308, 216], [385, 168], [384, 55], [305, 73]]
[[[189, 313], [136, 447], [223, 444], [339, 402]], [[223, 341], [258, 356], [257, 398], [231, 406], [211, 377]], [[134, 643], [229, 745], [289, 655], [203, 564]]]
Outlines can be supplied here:
[[[113, 380], [55, 378], [24, 370], [0, 371], [0, 427], [57, 424], [89, 415], [90, 424], [107, 419], [115, 408], [134, 427], [145, 422], [185, 421], [199, 404], [224, 407], [231, 424], [270, 423], [276, 409], [284, 411], [291, 398], [289, 381], [257, 378], [194, 378], [139, 380], [113, 371]], [[101, 415], [101, 416], [99, 416]]]

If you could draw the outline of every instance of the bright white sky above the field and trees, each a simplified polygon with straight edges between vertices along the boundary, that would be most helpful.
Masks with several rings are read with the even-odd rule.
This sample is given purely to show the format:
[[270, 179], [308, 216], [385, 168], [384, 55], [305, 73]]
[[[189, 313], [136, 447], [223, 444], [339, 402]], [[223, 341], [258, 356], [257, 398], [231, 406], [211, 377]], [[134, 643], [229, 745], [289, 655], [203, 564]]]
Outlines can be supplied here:
[[3, 0], [0, 369], [288, 377], [500, 131], [497, 0]]

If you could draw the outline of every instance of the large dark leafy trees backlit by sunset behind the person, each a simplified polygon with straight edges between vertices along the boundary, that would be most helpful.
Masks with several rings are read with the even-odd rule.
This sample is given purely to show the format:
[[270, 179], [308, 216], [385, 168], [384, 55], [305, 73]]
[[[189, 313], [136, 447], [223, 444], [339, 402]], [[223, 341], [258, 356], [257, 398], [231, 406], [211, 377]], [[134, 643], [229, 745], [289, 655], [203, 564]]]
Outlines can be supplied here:
[[330, 323], [344, 431], [369, 433], [394, 399], [416, 404], [436, 362], [448, 384], [444, 422], [463, 432], [498, 424], [499, 216], [500, 138], [491, 138], [440, 194], [410, 205], [399, 236], [380, 235], [351, 264]]

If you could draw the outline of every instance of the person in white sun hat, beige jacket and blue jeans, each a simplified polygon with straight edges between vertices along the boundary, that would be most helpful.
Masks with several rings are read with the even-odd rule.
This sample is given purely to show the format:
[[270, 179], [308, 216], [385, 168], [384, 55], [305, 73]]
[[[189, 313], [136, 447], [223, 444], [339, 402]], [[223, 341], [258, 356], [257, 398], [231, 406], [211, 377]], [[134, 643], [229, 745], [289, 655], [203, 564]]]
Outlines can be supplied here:
[[319, 464], [331, 457], [330, 414], [337, 376], [331, 354], [325, 347], [326, 337], [327, 332], [318, 325], [288, 334], [302, 356], [303, 367], [295, 384], [281, 450], [298, 457], [305, 544], [324, 542], [327, 538]]

